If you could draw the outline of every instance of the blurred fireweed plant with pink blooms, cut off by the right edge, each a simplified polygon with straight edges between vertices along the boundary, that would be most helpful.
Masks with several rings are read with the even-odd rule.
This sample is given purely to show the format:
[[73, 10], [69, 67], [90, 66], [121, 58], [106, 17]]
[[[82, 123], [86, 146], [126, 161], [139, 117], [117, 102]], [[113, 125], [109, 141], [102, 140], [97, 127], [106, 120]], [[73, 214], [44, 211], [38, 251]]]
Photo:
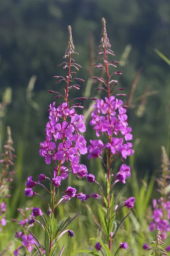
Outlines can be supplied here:
[[[162, 146], [162, 165], [161, 165], [161, 176], [157, 179], [158, 191], [161, 197], [156, 200], [153, 199], [153, 212], [149, 224], [149, 231], [160, 230], [160, 238], [163, 244], [169, 243], [170, 234], [170, 201], [169, 199], [169, 180], [170, 180], [170, 162], [166, 154], [165, 147]], [[143, 249], [147, 250], [149, 248], [148, 244], [143, 245]], [[170, 245], [166, 247], [166, 251], [170, 252]], [[166, 254], [165, 254], [166, 255]]]

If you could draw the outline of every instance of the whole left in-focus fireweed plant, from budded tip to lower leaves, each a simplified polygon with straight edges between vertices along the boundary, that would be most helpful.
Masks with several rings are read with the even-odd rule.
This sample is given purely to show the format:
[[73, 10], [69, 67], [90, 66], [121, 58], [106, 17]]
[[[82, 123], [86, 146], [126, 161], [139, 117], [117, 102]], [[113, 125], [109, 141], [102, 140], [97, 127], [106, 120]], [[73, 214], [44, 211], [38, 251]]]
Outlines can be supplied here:
[[[64, 69], [68, 69], [66, 78], [61, 76], [55, 76], [58, 79], [57, 83], [61, 81], [66, 83], [66, 89], [64, 88], [64, 95], [49, 91], [50, 93], [56, 93], [55, 99], [63, 98], [64, 102], [56, 107], [56, 103], [50, 104], [49, 106], [49, 122], [46, 125], [45, 133], [46, 139], [40, 143], [40, 156], [45, 157], [45, 162], [50, 164], [54, 163], [54, 171], [51, 177], [46, 177], [44, 174], [38, 176], [38, 181], [32, 180], [32, 177], [28, 177], [26, 182], [27, 188], [25, 188], [24, 194], [27, 197], [39, 196], [48, 206], [47, 214], [49, 215], [50, 221], [47, 220], [43, 212], [38, 208], [34, 207], [32, 210], [32, 217], [28, 224], [36, 222], [36, 217], [41, 216], [43, 224], [39, 222], [42, 230], [45, 232], [44, 246], [42, 247], [38, 238], [36, 238], [32, 232], [29, 233], [33, 236], [37, 243], [33, 243], [33, 246], [38, 250], [40, 255], [53, 256], [57, 248], [58, 240], [62, 235], [67, 233], [70, 238], [74, 236], [72, 230], [66, 229], [68, 225], [80, 214], [77, 213], [72, 219], [67, 217], [57, 223], [55, 219], [55, 208], [60, 204], [65, 204], [71, 198], [76, 197], [79, 200], [85, 201], [86, 195], [83, 193], [76, 194], [76, 188], [69, 186], [65, 191], [59, 192], [59, 186], [63, 179], [68, 177], [71, 172], [79, 178], [87, 175], [87, 167], [84, 164], [79, 164], [79, 157], [81, 154], [87, 153], [86, 140], [80, 134], [85, 132], [86, 126], [83, 122], [83, 115], [78, 115], [75, 111], [76, 108], [83, 108], [80, 103], [71, 105], [70, 103], [75, 100], [68, 99], [68, 93], [72, 88], [79, 89], [80, 85], [74, 84], [76, 80], [83, 82], [84, 80], [79, 78], [72, 78], [76, 74], [75, 70], [78, 70], [81, 66], [74, 62], [72, 58], [73, 54], [78, 54], [74, 51], [74, 45], [71, 34], [71, 27], [68, 26], [68, 44], [67, 49], [64, 52], [63, 58], [68, 58], [67, 62], [63, 62], [58, 66], [64, 65]], [[73, 71], [72, 71], [73, 69]], [[86, 100], [87, 98], [76, 98], [78, 100]], [[47, 189], [41, 182], [49, 180], [49, 187]], [[41, 185], [46, 189], [47, 193], [51, 195], [51, 202], [46, 202], [45, 199], [33, 191], [36, 185]], [[60, 256], [64, 250], [64, 245], [60, 251]], [[31, 255], [31, 253], [30, 253]]]

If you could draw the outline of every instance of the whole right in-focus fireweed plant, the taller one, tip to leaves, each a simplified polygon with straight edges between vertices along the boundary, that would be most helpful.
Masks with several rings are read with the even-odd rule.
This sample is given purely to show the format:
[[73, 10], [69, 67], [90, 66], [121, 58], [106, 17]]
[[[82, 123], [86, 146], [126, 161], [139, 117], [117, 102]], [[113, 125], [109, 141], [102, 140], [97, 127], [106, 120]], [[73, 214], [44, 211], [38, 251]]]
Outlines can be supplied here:
[[[122, 100], [116, 98], [116, 96], [124, 96], [125, 94], [113, 95], [116, 90], [121, 91], [125, 88], [114, 89], [115, 86], [118, 85], [118, 81], [114, 80], [112, 77], [121, 75], [122, 73], [121, 71], [110, 73], [110, 68], [116, 68], [115, 64], [119, 62], [115, 60], [108, 61], [108, 55], [114, 56], [114, 52], [111, 50], [111, 44], [109, 43], [106, 31], [106, 21], [104, 18], [102, 18], [102, 38], [98, 48], [97, 58], [99, 63], [94, 64], [94, 67], [99, 68], [100, 71], [104, 71], [106, 73], [106, 78], [93, 78], [103, 83], [103, 87], [97, 88], [97, 90], [104, 90], [107, 95], [104, 99], [92, 98], [95, 101], [95, 104], [94, 111], [91, 114], [90, 125], [93, 126], [98, 138], [105, 135], [108, 142], [104, 145], [101, 139], [90, 140], [90, 145], [88, 145], [88, 159], [101, 159], [103, 166], [106, 169], [106, 187], [103, 188], [102, 185], [95, 180], [93, 174], [88, 174], [86, 178], [88, 182], [98, 185], [100, 195], [94, 193], [91, 197], [98, 200], [102, 205], [99, 208], [99, 213], [103, 221], [101, 224], [98, 224], [96, 221], [94, 222], [101, 231], [104, 242], [96, 238], [91, 239], [98, 241], [95, 245], [97, 251], [100, 251], [104, 255], [103, 250], [105, 250], [107, 255], [113, 255], [111, 253], [112, 240], [125, 218], [129, 215], [128, 214], [121, 222], [118, 222], [116, 220], [116, 214], [122, 207], [133, 208], [135, 198], [131, 197], [120, 204], [114, 205], [112, 189], [117, 182], [125, 184], [126, 178], [131, 176], [130, 167], [124, 163], [124, 159], [126, 159], [127, 156], [132, 155], [134, 150], [132, 149], [132, 143], [129, 142], [132, 140], [133, 136], [130, 133], [132, 129], [128, 126], [127, 122], [127, 107], [124, 106]], [[105, 156], [107, 159], [104, 158]], [[111, 165], [118, 156], [121, 156], [123, 163], [120, 166], [120, 170], [117, 173], [113, 173]], [[128, 244], [122, 241], [119, 248], [115, 250], [114, 255], [118, 255], [122, 249], [127, 248]], [[82, 250], [81, 252], [99, 255], [95, 251]]]

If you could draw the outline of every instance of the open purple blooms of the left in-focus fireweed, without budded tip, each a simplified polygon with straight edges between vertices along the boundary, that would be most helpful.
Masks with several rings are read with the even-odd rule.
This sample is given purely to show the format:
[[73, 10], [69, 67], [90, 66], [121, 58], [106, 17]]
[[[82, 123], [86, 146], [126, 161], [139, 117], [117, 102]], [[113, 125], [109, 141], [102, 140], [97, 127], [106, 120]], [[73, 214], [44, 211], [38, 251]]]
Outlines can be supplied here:
[[[40, 143], [40, 155], [45, 157], [47, 164], [51, 159], [56, 161], [73, 161], [74, 156], [80, 156], [87, 153], [86, 140], [80, 132], [86, 130], [83, 122], [83, 115], [78, 115], [73, 107], [64, 102], [59, 107], [55, 107], [55, 102], [50, 104], [49, 122], [46, 125], [46, 140]], [[69, 119], [69, 122], [65, 121]], [[59, 123], [61, 121], [61, 123]], [[52, 141], [54, 139], [55, 142]], [[56, 142], [59, 142], [56, 146]]]

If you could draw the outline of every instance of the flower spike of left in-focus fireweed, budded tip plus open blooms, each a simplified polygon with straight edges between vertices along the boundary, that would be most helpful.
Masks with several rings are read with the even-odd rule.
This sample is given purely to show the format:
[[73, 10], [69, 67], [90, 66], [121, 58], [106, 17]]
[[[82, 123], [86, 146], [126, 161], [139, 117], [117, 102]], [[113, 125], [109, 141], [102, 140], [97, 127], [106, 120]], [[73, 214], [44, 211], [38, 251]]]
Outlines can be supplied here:
[[[65, 95], [61, 95], [58, 92], [49, 91], [50, 93], [57, 93], [58, 95], [55, 98], [63, 97], [65, 102], [60, 103], [59, 106], [56, 107], [56, 103], [50, 104], [49, 106], [49, 122], [46, 125], [45, 133], [46, 140], [40, 143], [40, 155], [45, 157], [45, 161], [47, 164], [51, 163], [51, 159], [54, 161], [55, 167], [55, 175], [53, 179], [53, 184], [55, 186], [59, 186], [62, 179], [67, 178], [68, 176], [68, 167], [62, 165], [65, 161], [71, 164], [71, 171], [74, 175], [82, 178], [87, 175], [87, 167], [84, 164], [79, 164], [80, 155], [84, 155], [87, 153], [86, 140], [83, 133], [86, 131], [86, 125], [83, 115], [79, 115], [76, 113], [75, 108], [83, 108], [80, 106], [80, 103], [76, 103], [73, 105], [69, 105], [71, 101], [68, 102], [68, 92], [72, 88], [79, 89], [79, 85], [69, 85], [69, 83], [78, 80], [83, 82], [84, 80], [80, 78], [72, 78], [76, 72], [71, 72], [70, 68], [74, 67], [78, 70], [80, 65], [76, 64], [74, 60], [71, 58], [72, 53], [76, 53], [74, 51], [74, 45], [72, 41], [71, 35], [71, 27], [68, 27], [69, 31], [69, 42], [68, 47], [65, 51], [64, 58], [69, 57], [69, 63], [63, 62], [58, 66], [62, 66], [64, 64], [64, 69], [69, 67], [69, 74], [66, 78], [55, 76], [55, 78], [59, 79], [57, 83], [64, 81], [67, 83], [67, 88], [65, 91]], [[76, 53], [77, 54], [77, 53]], [[80, 97], [76, 98], [79, 100], [86, 100], [87, 98]], [[53, 141], [52, 141], [53, 140]], [[59, 164], [57, 164], [59, 161]]]

